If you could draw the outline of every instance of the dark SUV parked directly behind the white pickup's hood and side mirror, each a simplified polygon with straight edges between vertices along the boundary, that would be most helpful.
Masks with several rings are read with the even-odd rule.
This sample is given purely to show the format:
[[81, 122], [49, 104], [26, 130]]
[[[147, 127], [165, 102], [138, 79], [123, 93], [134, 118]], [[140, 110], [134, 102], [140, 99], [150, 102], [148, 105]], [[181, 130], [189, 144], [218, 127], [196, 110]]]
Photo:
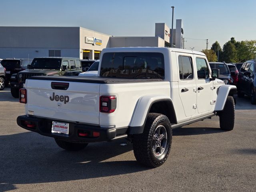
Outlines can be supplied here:
[[230, 70], [226, 63], [221, 62], [209, 62], [211, 69], [219, 69], [220, 76], [218, 79], [224, 81], [225, 84], [233, 84], [234, 80], [230, 74]]

